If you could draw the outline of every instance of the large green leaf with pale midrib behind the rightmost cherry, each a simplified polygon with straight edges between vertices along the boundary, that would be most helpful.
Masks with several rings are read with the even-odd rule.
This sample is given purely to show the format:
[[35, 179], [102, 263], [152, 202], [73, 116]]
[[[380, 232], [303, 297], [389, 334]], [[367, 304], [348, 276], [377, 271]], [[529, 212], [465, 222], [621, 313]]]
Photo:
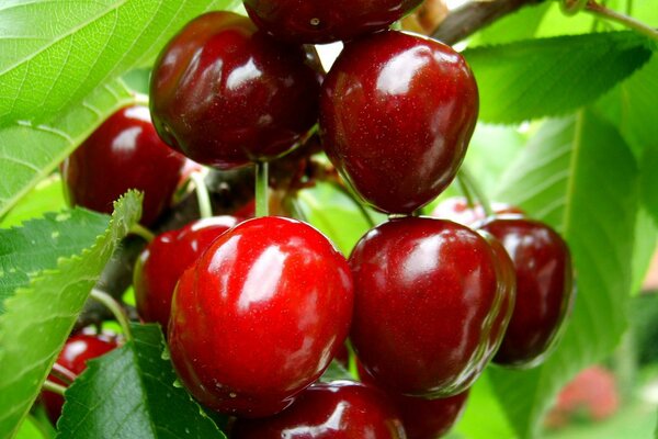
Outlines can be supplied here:
[[638, 172], [614, 126], [583, 111], [547, 122], [507, 176], [501, 198], [563, 234], [578, 285], [567, 330], [543, 365], [490, 371], [514, 430], [532, 437], [561, 385], [608, 354], [626, 328]]

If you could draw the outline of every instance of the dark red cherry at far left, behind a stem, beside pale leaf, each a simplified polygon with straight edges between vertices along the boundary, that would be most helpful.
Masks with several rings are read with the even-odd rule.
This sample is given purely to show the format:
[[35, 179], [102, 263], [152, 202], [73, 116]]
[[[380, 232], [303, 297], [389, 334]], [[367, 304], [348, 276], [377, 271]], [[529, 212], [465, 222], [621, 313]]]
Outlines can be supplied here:
[[150, 225], [169, 206], [185, 158], [156, 133], [146, 106], [114, 113], [63, 164], [65, 194], [71, 205], [112, 213], [112, 202], [128, 189], [144, 191], [141, 224]]

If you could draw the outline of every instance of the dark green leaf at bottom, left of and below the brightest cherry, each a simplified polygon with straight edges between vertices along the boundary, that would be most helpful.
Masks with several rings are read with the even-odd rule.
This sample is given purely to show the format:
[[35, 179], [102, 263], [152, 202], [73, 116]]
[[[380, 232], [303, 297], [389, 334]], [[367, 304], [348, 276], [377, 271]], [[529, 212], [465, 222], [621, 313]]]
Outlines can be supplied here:
[[160, 327], [132, 325], [135, 339], [88, 362], [66, 392], [58, 438], [226, 438], [213, 420], [174, 386]]

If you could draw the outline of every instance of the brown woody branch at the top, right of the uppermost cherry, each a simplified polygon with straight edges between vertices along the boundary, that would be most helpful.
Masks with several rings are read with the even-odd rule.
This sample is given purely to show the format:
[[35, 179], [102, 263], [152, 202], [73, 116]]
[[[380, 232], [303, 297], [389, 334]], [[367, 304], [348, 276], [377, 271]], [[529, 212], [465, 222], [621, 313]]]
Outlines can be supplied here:
[[455, 44], [519, 9], [544, 0], [474, 1], [452, 11], [432, 33], [432, 38]]

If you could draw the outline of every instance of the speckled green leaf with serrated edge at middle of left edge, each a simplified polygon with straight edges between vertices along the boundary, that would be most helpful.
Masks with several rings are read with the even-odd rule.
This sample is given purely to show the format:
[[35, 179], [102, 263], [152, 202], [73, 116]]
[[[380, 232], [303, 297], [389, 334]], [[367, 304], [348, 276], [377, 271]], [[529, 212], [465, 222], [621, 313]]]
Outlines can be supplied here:
[[59, 258], [91, 247], [107, 221], [106, 215], [76, 209], [0, 229], [0, 315], [4, 301], [35, 274], [55, 269]]

